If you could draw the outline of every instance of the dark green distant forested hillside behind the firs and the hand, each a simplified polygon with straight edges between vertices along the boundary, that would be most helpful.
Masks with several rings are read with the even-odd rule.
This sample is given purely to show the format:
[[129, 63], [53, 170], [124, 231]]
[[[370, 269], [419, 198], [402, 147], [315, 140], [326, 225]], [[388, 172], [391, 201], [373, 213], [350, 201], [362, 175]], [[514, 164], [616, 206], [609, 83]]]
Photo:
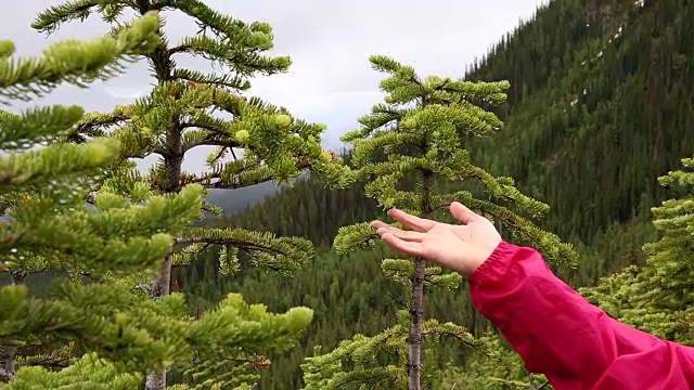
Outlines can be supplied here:
[[[562, 271], [577, 287], [643, 260], [641, 246], [655, 238], [648, 210], [664, 198], [656, 179], [694, 150], [694, 6], [686, 0], [597, 3], [552, 1], [461, 69], [470, 80], [511, 81], [507, 104], [497, 110], [505, 128], [491, 140], [467, 142], [476, 164], [513, 177], [552, 207], [543, 227], [582, 255], [577, 270]], [[301, 181], [218, 223], [307, 237], [322, 248], [314, 264], [294, 280], [243, 270], [230, 280], [201, 262], [176, 283], [197, 286], [191, 292], [200, 306], [239, 289], [273, 310], [313, 308], [303, 347], [278, 359], [261, 384], [297, 388], [298, 366], [312, 346], [332, 348], [395, 321], [388, 297], [396, 290], [377, 257], [330, 252], [337, 227], [381, 213], [361, 186], [329, 191]], [[200, 278], [206, 287], [191, 283]], [[464, 288], [455, 299], [434, 294], [429, 313], [466, 323], [475, 334], [486, 329]]]

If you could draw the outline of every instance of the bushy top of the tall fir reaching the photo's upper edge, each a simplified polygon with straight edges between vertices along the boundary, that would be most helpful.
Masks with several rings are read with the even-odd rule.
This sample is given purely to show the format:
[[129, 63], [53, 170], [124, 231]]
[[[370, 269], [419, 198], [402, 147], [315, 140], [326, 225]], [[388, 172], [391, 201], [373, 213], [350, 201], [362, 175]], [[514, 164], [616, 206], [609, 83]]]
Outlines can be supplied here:
[[[252, 77], [283, 73], [291, 65], [288, 56], [267, 54], [273, 48], [267, 23], [244, 23], [198, 0], [141, 0], [129, 4], [68, 1], [40, 13], [33, 26], [50, 34], [63, 23], [97, 13], [114, 25], [115, 32], [130, 24], [116, 22], [128, 9], [140, 14], [180, 11], [195, 21], [200, 31], [170, 44], [162, 32], [162, 39], [156, 50], [144, 55], [157, 79], [154, 90], [112, 113], [90, 115], [75, 129], [74, 140], [115, 128], [114, 136], [125, 145], [123, 157], [160, 156], [150, 179], [153, 187], [165, 192], [187, 183], [235, 188], [270, 179], [287, 181], [308, 168], [330, 183], [347, 184], [345, 168], [322, 151], [323, 125], [293, 118], [282, 107], [240, 95], [250, 88]], [[208, 60], [223, 72], [176, 66], [175, 57], [185, 54]], [[202, 176], [180, 171], [184, 154], [202, 145], [216, 147], [206, 159], [209, 170]], [[236, 158], [234, 148], [243, 150], [243, 158]]]

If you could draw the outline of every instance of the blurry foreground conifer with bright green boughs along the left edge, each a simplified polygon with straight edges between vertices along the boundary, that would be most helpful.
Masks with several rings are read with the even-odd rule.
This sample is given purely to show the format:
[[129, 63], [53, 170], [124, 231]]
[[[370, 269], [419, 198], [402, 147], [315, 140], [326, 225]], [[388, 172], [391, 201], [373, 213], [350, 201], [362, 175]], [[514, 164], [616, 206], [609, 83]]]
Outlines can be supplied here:
[[[147, 15], [115, 38], [59, 42], [31, 60], [12, 58], [13, 44], [2, 42], [0, 95], [29, 100], [64, 81], [105, 79], [124, 68], [123, 60], [156, 44], [158, 27], [157, 15]], [[0, 147], [8, 153], [0, 157], [8, 217], [0, 225], [0, 266], [13, 281], [0, 288], [0, 389], [133, 389], [144, 373], [180, 360], [203, 355], [223, 364], [245, 355], [261, 365], [260, 352], [292, 347], [311, 321], [306, 308], [272, 314], [229, 295], [193, 321], [180, 294], [158, 300], [133, 294], [126, 275], [146, 274], [171, 251], [175, 235], [200, 217], [204, 188], [156, 195], [146, 182], [113, 174], [129, 168], [116, 139], [65, 142], [82, 119], [77, 106], [0, 113]], [[27, 151], [34, 146], [41, 147]], [[29, 297], [24, 277], [47, 270], [75, 280]], [[86, 274], [92, 283], [80, 283]], [[38, 355], [17, 353], [37, 344]], [[196, 388], [245, 388], [255, 377], [244, 368], [221, 377], [201, 373]]]

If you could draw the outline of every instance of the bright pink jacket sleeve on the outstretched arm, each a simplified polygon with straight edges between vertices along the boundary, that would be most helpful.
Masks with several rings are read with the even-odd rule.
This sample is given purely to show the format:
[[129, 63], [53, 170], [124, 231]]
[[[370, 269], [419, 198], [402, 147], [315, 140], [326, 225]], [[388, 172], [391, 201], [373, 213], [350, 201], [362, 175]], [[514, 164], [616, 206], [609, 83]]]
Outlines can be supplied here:
[[501, 243], [470, 277], [472, 300], [556, 390], [694, 389], [694, 349], [611, 318], [535, 249]]

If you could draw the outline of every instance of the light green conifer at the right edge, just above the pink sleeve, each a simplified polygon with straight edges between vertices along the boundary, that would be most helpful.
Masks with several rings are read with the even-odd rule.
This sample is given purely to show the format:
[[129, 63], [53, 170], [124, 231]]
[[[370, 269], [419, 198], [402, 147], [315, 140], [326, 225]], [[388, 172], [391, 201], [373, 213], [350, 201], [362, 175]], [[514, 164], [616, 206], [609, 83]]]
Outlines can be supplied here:
[[660, 338], [694, 344], [694, 158], [682, 159], [683, 168], [659, 178], [676, 197], [651, 209], [660, 238], [643, 246], [648, 256], [639, 269], [629, 266], [604, 277], [581, 292], [620, 321]]

